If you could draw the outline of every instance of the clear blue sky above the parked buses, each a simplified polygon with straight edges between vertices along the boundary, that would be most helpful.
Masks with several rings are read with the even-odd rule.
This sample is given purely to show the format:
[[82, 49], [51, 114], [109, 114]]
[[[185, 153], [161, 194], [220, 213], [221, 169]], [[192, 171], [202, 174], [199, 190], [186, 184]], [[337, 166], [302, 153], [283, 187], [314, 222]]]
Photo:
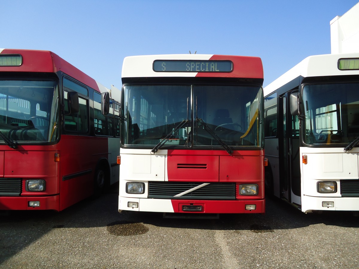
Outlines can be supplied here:
[[50, 50], [106, 87], [126, 56], [258, 56], [264, 86], [327, 54], [330, 21], [358, 0], [1, 0], [0, 48]]

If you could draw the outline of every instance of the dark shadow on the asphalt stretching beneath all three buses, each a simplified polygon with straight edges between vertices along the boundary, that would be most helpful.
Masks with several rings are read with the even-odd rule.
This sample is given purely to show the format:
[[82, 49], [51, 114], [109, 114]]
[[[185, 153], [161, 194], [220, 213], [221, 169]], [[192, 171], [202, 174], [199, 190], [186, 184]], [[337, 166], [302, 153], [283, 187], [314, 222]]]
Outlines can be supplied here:
[[209, 220], [163, 218], [162, 213], [152, 212], [118, 213], [118, 189], [113, 188], [99, 198], [85, 199], [62, 212], [15, 211], [0, 216], [0, 266], [29, 245], [41, 242], [41, 237], [54, 229], [61, 233], [68, 228], [99, 227], [112, 235], [131, 236], [146, 233], [151, 226], [265, 233], [317, 224], [359, 227], [358, 217], [350, 212], [304, 214], [274, 198], [267, 198], [265, 214], [222, 214], [219, 219]]

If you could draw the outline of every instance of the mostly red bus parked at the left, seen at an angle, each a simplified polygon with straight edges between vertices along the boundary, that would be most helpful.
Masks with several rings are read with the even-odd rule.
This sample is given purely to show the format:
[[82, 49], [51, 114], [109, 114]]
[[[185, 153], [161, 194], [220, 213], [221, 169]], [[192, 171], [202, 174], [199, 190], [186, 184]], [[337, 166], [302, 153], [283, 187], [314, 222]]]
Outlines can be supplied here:
[[110, 93], [50, 51], [0, 49], [0, 210], [61, 211], [118, 181]]

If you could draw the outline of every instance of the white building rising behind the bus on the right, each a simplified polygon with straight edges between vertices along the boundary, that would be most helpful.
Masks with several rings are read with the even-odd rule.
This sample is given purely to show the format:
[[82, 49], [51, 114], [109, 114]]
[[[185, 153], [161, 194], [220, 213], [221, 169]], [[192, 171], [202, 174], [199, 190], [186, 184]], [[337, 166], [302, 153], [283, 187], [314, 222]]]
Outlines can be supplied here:
[[330, 22], [331, 53], [359, 52], [359, 3]]

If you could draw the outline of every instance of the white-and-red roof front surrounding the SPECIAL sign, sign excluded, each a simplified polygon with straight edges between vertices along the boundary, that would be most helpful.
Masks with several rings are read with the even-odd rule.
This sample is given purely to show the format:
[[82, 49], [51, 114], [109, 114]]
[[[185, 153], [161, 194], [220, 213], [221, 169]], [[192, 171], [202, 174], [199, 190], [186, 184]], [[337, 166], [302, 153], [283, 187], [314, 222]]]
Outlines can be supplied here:
[[[201, 61], [231, 61], [233, 70], [230, 72], [162, 72], [154, 71], [156, 60], [182, 60], [200, 64]], [[130, 77], [227, 77], [263, 79], [262, 60], [259, 57], [208, 55], [208, 54], [169, 54], [143, 55], [125, 57], [122, 65], [122, 78]]]

